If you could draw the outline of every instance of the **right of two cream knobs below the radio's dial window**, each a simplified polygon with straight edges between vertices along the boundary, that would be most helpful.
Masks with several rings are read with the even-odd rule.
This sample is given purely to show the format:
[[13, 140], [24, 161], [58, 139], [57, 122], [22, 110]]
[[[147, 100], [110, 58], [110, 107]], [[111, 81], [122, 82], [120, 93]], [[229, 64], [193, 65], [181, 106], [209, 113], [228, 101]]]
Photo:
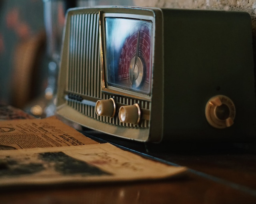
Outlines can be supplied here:
[[122, 123], [138, 124], [140, 122], [140, 106], [138, 103], [134, 105], [121, 106], [119, 109], [118, 117]]

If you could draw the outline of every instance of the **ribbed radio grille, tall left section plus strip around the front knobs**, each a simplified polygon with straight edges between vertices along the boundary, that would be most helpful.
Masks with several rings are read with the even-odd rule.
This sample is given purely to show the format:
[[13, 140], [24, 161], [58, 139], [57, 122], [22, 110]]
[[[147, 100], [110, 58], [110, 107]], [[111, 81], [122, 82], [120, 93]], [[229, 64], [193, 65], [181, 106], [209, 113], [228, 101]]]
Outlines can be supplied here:
[[[97, 99], [109, 99], [113, 95], [104, 94], [101, 91], [100, 72], [100, 36], [99, 36], [99, 14], [83, 13], [74, 14], [70, 17], [69, 38], [69, 63], [68, 63], [68, 85], [67, 91], [74, 94], [87, 95]], [[117, 103], [132, 105], [140, 103], [144, 109], [149, 109], [150, 102], [129, 99], [127, 97], [115, 96]], [[137, 125], [121, 123], [118, 117], [109, 118], [98, 116], [95, 107], [80, 104], [78, 101], [67, 101], [67, 104], [89, 117], [98, 119], [105, 123], [120, 125], [124, 127], [148, 127], [148, 121], [142, 121]]]

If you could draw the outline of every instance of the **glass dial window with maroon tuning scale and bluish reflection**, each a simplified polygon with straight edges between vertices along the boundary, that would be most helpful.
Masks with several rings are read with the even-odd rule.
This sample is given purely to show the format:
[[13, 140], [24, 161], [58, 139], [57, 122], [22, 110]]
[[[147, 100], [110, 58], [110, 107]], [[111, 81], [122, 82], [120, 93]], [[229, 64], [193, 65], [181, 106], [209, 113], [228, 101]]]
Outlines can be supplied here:
[[107, 83], [150, 94], [152, 22], [105, 18]]

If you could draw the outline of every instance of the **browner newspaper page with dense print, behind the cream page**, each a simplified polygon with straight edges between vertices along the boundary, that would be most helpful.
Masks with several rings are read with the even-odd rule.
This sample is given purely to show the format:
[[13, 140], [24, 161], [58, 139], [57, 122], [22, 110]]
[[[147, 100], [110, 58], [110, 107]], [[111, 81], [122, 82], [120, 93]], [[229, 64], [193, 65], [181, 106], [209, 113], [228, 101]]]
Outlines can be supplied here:
[[0, 150], [97, 144], [55, 116], [0, 121]]

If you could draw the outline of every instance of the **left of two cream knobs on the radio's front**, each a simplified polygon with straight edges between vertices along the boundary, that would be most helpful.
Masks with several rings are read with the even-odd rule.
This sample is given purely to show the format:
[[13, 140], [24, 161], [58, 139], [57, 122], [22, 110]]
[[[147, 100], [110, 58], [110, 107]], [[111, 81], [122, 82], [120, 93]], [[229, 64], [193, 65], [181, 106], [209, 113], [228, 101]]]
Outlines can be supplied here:
[[113, 98], [98, 100], [95, 105], [97, 115], [114, 117], [116, 113], [116, 102]]

